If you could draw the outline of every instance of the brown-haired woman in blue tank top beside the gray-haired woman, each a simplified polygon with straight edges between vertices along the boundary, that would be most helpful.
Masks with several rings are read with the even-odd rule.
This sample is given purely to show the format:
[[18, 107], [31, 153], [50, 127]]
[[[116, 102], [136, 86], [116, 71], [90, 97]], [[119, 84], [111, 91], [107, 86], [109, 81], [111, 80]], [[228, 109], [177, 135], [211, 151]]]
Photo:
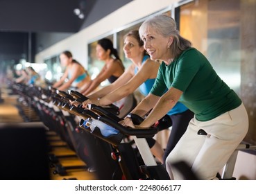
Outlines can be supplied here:
[[[150, 60], [149, 56], [146, 55], [143, 42], [139, 38], [137, 30], [130, 31], [130, 33], [124, 36], [123, 51], [126, 54], [126, 58], [130, 59], [133, 64], [131, 64], [123, 75], [114, 83], [88, 96], [89, 100], [86, 100], [83, 103], [84, 107], [89, 103], [109, 105], [110, 103], [114, 103], [115, 101], [132, 94], [137, 88], [139, 88], [139, 91], [141, 91], [144, 96], [149, 93], [155, 82], [160, 64]], [[151, 152], [162, 163], [164, 163], [169, 152], [171, 152], [185, 132], [190, 119], [194, 115], [181, 103], [176, 105], [175, 111], [171, 110], [168, 114], [170, 116], [168, 116], [169, 126], [172, 125], [173, 127], [166, 151], [164, 152], [162, 150], [161, 145], [157, 143], [155, 139], [147, 139]], [[169, 126], [167, 126], [167, 128]]]

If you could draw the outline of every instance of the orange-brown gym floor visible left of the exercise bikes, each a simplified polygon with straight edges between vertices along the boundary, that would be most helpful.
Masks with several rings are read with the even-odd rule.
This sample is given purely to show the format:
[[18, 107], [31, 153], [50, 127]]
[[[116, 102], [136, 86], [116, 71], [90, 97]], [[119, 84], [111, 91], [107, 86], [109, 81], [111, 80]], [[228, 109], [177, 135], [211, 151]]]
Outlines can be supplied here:
[[[11, 94], [9, 89], [1, 88], [0, 94], [0, 123], [24, 123], [24, 117], [19, 114], [19, 109], [17, 109], [17, 98], [19, 96]], [[33, 116], [37, 120], [37, 116], [33, 114], [31, 110], [27, 110], [25, 114]], [[58, 164], [63, 167], [69, 166], [86, 166], [86, 164], [76, 157], [76, 153], [69, 149], [65, 142], [63, 142], [58, 135], [54, 132], [46, 131], [46, 139], [49, 142], [49, 155], [55, 155], [59, 157]], [[71, 155], [72, 157], [61, 157], [63, 155]], [[68, 169], [66, 170], [66, 175], [54, 174], [54, 167], [51, 166], [49, 162], [50, 177], [52, 180], [62, 180], [62, 179], [78, 179], [78, 180], [95, 180], [96, 176], [94, 173], [87, 172], [87, 168], [78, 169]]]

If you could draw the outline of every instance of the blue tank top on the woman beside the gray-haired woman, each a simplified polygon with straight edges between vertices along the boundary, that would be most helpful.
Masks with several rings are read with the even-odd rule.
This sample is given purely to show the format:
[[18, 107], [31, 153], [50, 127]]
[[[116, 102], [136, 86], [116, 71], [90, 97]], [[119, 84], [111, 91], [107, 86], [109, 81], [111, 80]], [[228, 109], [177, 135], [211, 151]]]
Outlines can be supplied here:
[[[148, 55], [145, 55], [143, 60], [142, 60], [142, 65], [144, 62], [149, 58]], [[135, 74], [138, 72], [138, 68], [135, 68]], [[155, 79], [148, 79], [142, 85], [139, 86], [139, 91], [144, 95], [147, 96], [149, 92], [151, 91], [151, 88], [153, 87], [155, 82]], [[185, 107], [182, 103], [176, 103], [176, 105], [167, 113], [168, 115], [173, 115], [173, 114], [179, 114], [182, 112], [185, 112], [188, 108]]]

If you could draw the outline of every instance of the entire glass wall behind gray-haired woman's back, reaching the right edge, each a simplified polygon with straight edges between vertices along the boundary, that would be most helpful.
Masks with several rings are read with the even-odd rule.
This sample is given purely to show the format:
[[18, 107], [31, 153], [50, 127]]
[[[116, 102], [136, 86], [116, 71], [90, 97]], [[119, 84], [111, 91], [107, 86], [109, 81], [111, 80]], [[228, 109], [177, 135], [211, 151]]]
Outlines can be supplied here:
[[256, 142], [256, 1], [197, 0], [176, 9], [180, 34], [203, 52], [219, 76], [242, 98]]

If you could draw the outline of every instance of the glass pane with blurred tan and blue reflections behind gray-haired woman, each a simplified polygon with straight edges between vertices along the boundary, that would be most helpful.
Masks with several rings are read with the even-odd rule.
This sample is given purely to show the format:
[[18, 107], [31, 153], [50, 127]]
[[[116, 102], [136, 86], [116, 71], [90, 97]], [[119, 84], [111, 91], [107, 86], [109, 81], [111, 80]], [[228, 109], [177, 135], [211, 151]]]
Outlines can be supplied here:
[[180, 34], [204, 53], [219, 76], [240, 93], [240, 0], [199, 0], [180, 7]]

